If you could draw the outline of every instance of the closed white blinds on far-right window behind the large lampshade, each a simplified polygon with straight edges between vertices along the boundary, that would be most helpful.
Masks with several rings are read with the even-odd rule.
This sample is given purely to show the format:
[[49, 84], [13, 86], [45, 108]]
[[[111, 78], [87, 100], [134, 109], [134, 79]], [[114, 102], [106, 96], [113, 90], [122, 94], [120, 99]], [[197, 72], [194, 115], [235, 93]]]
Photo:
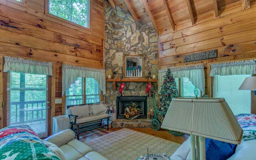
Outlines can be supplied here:
[[251, 113], [251, 91], [238, 90], [248, 76], [251, 75], [214, 76], [213, 98], [225, 98], [234, 115]]

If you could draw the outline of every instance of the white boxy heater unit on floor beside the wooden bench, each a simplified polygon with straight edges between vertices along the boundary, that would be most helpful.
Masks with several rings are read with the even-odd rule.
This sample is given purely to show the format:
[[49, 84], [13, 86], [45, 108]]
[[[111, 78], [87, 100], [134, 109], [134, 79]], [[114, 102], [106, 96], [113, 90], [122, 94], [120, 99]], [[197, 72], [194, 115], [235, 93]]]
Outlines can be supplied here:
[[60, 115], [52, 117], [52, 134], [69, 129], [69, 117]]

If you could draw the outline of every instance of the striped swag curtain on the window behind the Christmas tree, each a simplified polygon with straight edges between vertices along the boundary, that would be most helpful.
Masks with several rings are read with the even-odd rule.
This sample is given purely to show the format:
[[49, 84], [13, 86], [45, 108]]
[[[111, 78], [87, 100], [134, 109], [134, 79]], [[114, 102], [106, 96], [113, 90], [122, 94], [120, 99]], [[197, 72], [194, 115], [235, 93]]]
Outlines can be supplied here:
[[[171, 67], [170, 68], [174, 78], [183, 78], [187, 77], [194, 86], [202, 91], [204, 95], [204, 64], [193, 65], [193, 66], [184, 66], [184, 67]], [[158, 70], [158, 93], [161, 92], [161, 86], [164, 81], [166, 69]]]

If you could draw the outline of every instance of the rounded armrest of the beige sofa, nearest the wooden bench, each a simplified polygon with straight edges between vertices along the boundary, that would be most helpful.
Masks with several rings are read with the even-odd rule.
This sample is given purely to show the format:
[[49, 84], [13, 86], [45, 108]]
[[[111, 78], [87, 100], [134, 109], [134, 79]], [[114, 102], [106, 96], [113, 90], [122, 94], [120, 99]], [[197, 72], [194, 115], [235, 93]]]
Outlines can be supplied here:
[[75, 138], [74, 131], [67, 129], [67, 130], [63, 130], [59, 133], [56, 133], [56, 134], [46, 138], [45, 140], [60, 147], [60, 146], [63, 146], [64, 144], [67, 144], [70, 140], [73, 140], [74, 138]]

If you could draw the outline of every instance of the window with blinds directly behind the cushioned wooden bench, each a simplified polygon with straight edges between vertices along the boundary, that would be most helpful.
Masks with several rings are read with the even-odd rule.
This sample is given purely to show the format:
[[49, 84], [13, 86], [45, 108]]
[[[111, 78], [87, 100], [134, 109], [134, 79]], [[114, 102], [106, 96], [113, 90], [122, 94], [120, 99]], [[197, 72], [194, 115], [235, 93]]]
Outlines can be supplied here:
[[66, 90], [66, 115], [68, 105], [80, 105], [100, 102], [101, 90], [93, 78], [79, 77]]

